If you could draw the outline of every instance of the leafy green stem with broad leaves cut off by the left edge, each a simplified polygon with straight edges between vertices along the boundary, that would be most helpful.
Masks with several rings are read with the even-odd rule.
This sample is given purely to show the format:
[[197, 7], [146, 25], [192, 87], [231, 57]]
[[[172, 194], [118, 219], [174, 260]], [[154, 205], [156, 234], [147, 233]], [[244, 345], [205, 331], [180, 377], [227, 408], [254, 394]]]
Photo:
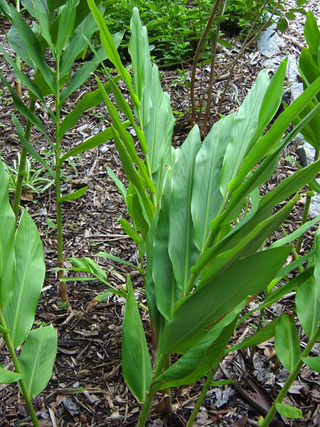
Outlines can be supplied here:
[[[16, 219], [8, 201], [9, 177], [1, 161], [0, 188], [0, 334], [15, 368], [14, 372], [0, 366], [0, 382], [18, 382], [33, 425], [38, 426], [31, 397], [48, 384], [58, 338], [50, 326], [31, 331], [45, 275], [43, 248], [38, 230], [26, 211], [15, 229]], [[21, 344], [17, 358], [16, 349]]]

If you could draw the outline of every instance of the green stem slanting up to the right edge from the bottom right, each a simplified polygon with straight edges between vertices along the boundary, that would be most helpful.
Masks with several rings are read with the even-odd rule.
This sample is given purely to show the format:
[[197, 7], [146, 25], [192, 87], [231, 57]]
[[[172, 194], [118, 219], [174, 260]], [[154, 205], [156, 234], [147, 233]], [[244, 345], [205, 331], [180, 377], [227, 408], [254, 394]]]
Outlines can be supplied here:
[[[311, 349], [314, 347], [314, 344], [320, 337], [320, 323], [318, 323], [316, 330], [311, 335], [311, 338], [309, 339], [309, 342], [302, 352], [302, 357], [308, 356], [308, 354], [311, 352]], [[277, 412], [276, 404], [281, 404], [282, 400], [284, 399], [284, 396], [286, 396], [287, 392], [289, 391], [289, 388], [292, 386], [292, 383], [296, 376], [299, 374], [300, 369], [302, 369], [304, 362], [302, 359], [299, 359], [298, 362], [294, 365], [289, 377], [287, 378], [287, 381], [284, 383], [284, 386], [280, 390], [277, 399], [275, 399], [274, 404], [271, 406], [269, 412], [267, 413], [267, 416], [260, 424], [260, 427], [268, 427], [271, 423], [275, 413]]]

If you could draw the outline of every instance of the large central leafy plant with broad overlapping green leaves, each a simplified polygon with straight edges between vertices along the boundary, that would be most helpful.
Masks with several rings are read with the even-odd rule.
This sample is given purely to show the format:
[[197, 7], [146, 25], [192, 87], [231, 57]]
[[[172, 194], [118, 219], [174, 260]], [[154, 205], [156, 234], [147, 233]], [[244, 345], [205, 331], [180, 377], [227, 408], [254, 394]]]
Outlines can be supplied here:
[[[320, 78], [265, 132], [281, 102], [287, 65], [284, 60], [272, 80], [266, 71], [258, 75], [238, 112], [215, 123], [203, 142], [195, 126], [180, 149], [174, 150], [171, 147], [174, 121], [169, 99], [159, 85], [158, 68], [151, 65], [146, 28], [137, 9], [132, 14], [129, 43], [132, 87], [100, 12], [93, 0], [88, 0], [88, 4], [100, 27], [103, 46], [112, 53], [109, 58], [128, 85], [133, 111], [112, 82], [111, 90], [117, 108], [134, 127], [143, 153], [142, 161], [117, 108], [97, 78], [112, 120], [114, 142], [130, 182], [128, 189], [120, 185], [114, 174], [110, 176], [132, 218], [133, 228], [127, 222], [123, 226], [139, 248], [148, 305], [144, 308], [149, 311], [156, 335], [151, 381], [142, 321], [128, 278], [122, 362], [127, 384], [143, 403], [138, 425], [144, 426], [156, 391], [191, 384], [209, 369], [214, 371], [225, 353], [242, 307], [252, 295], [262, 290], [266, 290], [266, 294], [270, 292], [272, 288], [268, 291], [267, 288], [272, 280], [278, 275], [282, 277], [282, 267], [292, 252], [292, 246], [287, 243], [296, 235], [288, 236], [286, 242], [274, 248], [265, 248], [265, 241], [292, 211], [299, 191], [319, 172], [320, 161], [284, 179], [265, 196], [260, 197], [259, 186], [274, 172], [282, 149], [319, 111], [320, 105], [314, 105], [284, 137], [292, 120], [319, 93]], [[248, 199], [252, 201], [251, 207]], [[281, 209], [273, 213], [279, 204]], [[92, 273], [92, 268], [96, 269], [93, 264], [88, 268], [87, 258], [73, 260], [73, 263], [75, 270]], [[287, 268], [291, 270], [295, 266], [292, 263]], [[310, 265], [310, 269], [311, 273], [306, 270], [292, 280], [290, 289], [306, 283], [314, 266]], [[99, 274], [99, 271], [94, 273], [95, 277]], [[102, 281], [108, 285], [106, 280]], [[266, 304], [273, 303], [280, 295], [281, 292], [268, 295]], [[309, 320], [306, 324], [309, 325]], [[311, 330], [314, 340], [318, 330], [314, 330], [314, 326]], [[291, 318], [280, 317], [272, 325], [258, 330], [243, 345], [256, 345], [274, 334], [279, 358], [294, 372], [306, 350], [300, 353], [297, 330]], [[171, 352], [182, 357], [170, 366]], [[192, 421], [188, 425], [192, 425]]]

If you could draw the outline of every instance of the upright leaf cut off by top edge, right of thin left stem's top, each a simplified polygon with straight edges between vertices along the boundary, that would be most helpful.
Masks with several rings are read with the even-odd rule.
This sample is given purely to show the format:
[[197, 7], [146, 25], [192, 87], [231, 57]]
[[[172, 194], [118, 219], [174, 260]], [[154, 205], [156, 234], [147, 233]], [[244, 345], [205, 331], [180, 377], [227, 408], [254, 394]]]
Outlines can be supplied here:
[[73, 25], [75, 23], [75, 11], [78, 6], [79, 0], [67, 0], [59, 11], [59, 27], [58, 27], [58, 38], [55, 43], [55, 50], [57, 58], [60, 57], [60, 53], [65, 48], [73, 33]]

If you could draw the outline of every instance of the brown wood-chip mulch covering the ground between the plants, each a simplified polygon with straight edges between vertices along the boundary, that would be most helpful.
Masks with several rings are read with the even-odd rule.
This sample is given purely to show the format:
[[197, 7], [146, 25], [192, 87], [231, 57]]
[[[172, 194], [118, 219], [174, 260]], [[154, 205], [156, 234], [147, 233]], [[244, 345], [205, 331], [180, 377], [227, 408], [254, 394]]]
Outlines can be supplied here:
[[[309, 8], [320, 17], [320, 7], [317, 1], [309, 1]], [[299, 45], [304, 43], [304, 19], [299, 16], [289, 26], [284, 35], [286, 47], [279, 53], [294, 53], [299, 57]], [[9, 23], [0, 21], [1, 46], [6, 46], [5, 34], [9, 30]], [[230, 36], [230, 43], [235, 49], [240, 47], [241, 41]], [[220, 52], [223, 53], [223, 52]], [[225, 55], [220, 56], [218, 67], [222, 67]], [[255, 76], [262, 68], [263, 56], [252, 46], [240, 60], [235, 70], [233, 85], [230, 86], [223, 112], [237, 107], [237, 99], [244, 99], [251, 88]], [[188, 71], [188, 66], [186, 68]], [[9, 70], [3, 58], [0, 60], [0, 71], [11, 82], [14, 74]], [[208, 79], [208, 70], [205, 70], [203, 79]], [[181, 84], [176, 70], [161, 70], [164, 88], [171, 95], [172, 109], [181, 112], [176, 117], [174, 144], [179, 145], [188, 134], [188, 90]], [[200, 90], [201, 75], [198, 74], [197, 93]], [[223, 90], [224, 82], [215, 85], [213, 91], [212, 109], [218, 102]], [[65, 106], [64, 114], [72, 110], [78, 97], [95, 89], [95, 81], [90, 80], [70, 97]], [[0, 144], [1, 156], [10, 166], [13, 165], [17, 152], [20, 149], [18, 137], [11, 124], [11, 112], [14, 105], [5, 88], [2, 88], [0, 100]], [[53, 126], [47, 120], [46, 112], [40, 105], [36, 112], [48, 125], [48, 132], [53, 132]], [[100, 132], [107, 126], [104, 105], [85, 114], [75, 130], [67, 133], [63, 141], [63, 150], [75, 147], [87, 137]], [[37, 149], [50, 151], [43, 136], [32, 132], [33, 144]], [[292, 164], [284, 162], [287, 155], [297, 157], [294, 144], [289, 145], [284, 152], [277, 171], [265, 186], [265, 191], [294, 170]], [[48, 154], [49, 155], [49, 154]], [[34, 165], [37, 167], [37, 165]], [[82, 154], [65, 165], [64, 190], [78, 189], [88, 185], [89, 189], [81, 199], [63, 204], [64, 228], [64, 255], [65, 266], [70, 267], [70, 256], [94, 258], [95, 253], [105, 251], [117, 255], [124, 260], [137, 261], [137, 248], [127, 236], [124, 236], [117, 218], [126, 217], [125, 206], [119, 196], [116, 186], [107, 175], [110, 167], [124, 183], [124, 174], [119, 157], [112, 141], [99, 148]], [[23, 194], [23, 206], [33, 217], [41, 233], [47, 266], [46, 280], [43, 285], [41, 300], [36, 315], [36, 325], [52, 324], [58, 330], [58, 354], [53, 376], [46, 389], [34, 399], [36, 411], [41, 413], [41, 426], [134, 426], [139, 416], [139, 404], [132, 396], [123, 381], [121, 370], [121, 329], [124, 312], [124, 300], [119, 297], [110, 297], [104, 302], [91, 306], [90, 302], [99, 295], [104, 286], [97, 282], [70, 282], [68, 293], [72, 312], [59, 309], [59, 295], [57, 289], [57, 275], [52, 270], [56, 266], [57, 256], [55, 249], [55, 230], [48, 227], [46, 219], [55, 221], [55, 191], [53, 187], [41, 194]], [[293, 231], [302, 217], [302, 203], [297, 206], [289, 217], [286, 228]], [[303, 251], [308, 251], [312, 245], [314, 231], [306, 233]], [[281, 236], [276, 233], [277, 238]], [[97, 260], [97, 258], [95, 258]], [[123, 265], [112, 263], [110, 260], [99, 259], [105, 269], [110, 283], [120, 287], [124, 283], [127, 273], [132, 275], [136, 288], [139, 288], [139, 277], [134, 276], [132, 270]], [[254, 304], [252, 302], [252, 304]], [[294, 307], [294, 295], [289, 295], [279, 304], [272, 306], [268, 312], [270, 318], [281, 312], [290, 311]], [[235, 339], [243, 339], [252, 332], [252, 323], [257, 318], [245, 322], [238, 330]], [[149, 337], [149, 322], [145, 318], [144, 325]], [[301, 332], [303, 334], [303, 332]], [[302, 336], [302, 342], [304, 337]], [[0, 363], [12, 369], [9, 355], [0, 340]], [[315, 349], [314, 355], [320, 355], [320, 348]], [[262, 406], [270, 404], [277, 396], [279, 387], [285, 381], [287, 372], [277, 364], [274, 358], [272, 341], [259, 346], [252, 362], [248, 354], [238, 352], [230, 354], [223, 362], [216, 379], [232, 376], [238, 381], [238, 387], [212, 387], [208, 393], [205, 405], [197, 418], [198, 426], [257, 426], [258, 416], [263, 413]], [[162, 396], [156, 396], [149, 426], [184, 426], [188, 421], [191, 410], [201, 392], [203, 381], [193, 386], [181, 387], [172, 390], [174, 413], [169, 416], [163, 411]], [[266, 394], [266, 391], [269, 394]], [[251, 397], [247, 396], [247, 393]], [[314, 374], [307, 367], [302, 369], [297, 381], [289, 391], [286, 403], [302, 408], [304, 421], [288, 421], [277, 418], [276, 426], [319, 426], [320, 425], [320, 386], [319, 375]], [[242, 419], [242, 421], [240, 421]], [[23, 404], [21, 394], [15, 385], [0, 384], [0, 426], [30, 426], [28, 413]], [[238, 423], [237, 423], [238, 421]]]

